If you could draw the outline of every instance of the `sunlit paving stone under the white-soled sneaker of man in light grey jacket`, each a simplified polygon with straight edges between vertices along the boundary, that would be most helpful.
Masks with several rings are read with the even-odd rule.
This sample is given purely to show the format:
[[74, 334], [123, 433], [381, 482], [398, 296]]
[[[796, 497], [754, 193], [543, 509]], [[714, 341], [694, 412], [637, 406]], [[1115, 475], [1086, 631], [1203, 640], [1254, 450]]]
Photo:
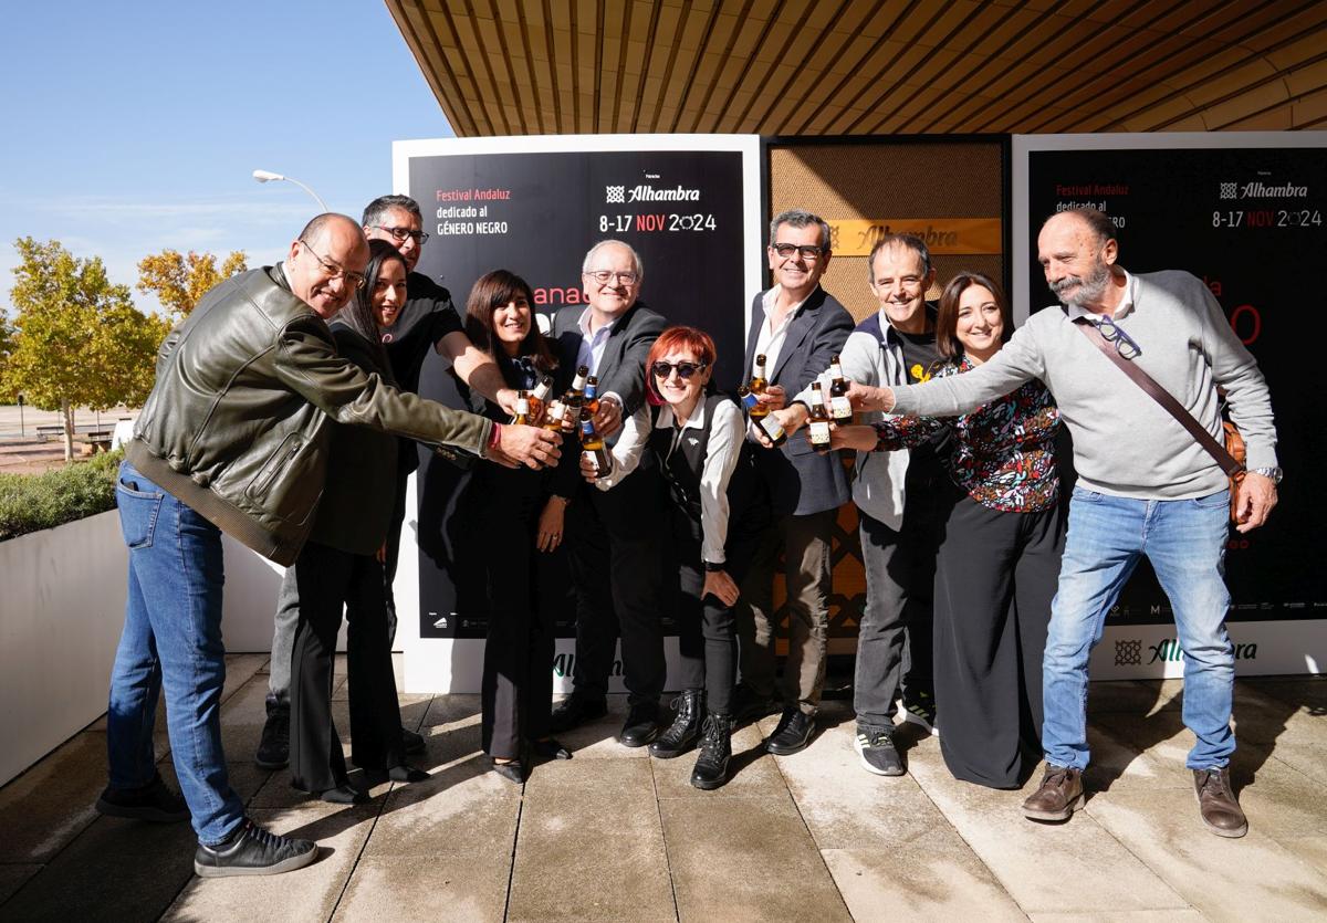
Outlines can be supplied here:
[[[901, 732], [900, 743], [909, 737]], [[824, 849], [889, 846], [949, 822], [910, 776], [867, 772], [852, 741], [856, 723], [821, 731], [802, 753], [776, 757], [802, 817]]]

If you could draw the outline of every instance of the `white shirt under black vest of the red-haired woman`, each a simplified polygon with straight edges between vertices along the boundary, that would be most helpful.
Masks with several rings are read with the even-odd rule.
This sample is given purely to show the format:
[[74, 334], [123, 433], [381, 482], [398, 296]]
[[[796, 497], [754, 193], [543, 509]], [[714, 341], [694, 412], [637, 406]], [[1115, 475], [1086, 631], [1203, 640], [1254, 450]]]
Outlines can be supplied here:
[[[687, 430], [705, 428], [705, 399], [697, 403], [695, 411], [681, 427], [673, 418], [673, 408], [664, 404], [660, 407], [658, 426], [661, 430], [673, 430], [669, 448], [671, 456], [678, 442], [689, 438]], [[613, 473], [594, 481], [598, 489], [608, 491], [636, 471], [650, 432], [650, 408], [645, 406], [622, 424], [622, 434], [613, 447]], [[705, 465], [701, 469], [701, 557], [709, 564], [723, 564], [727, 560], [723, 545], [729, 537], [729, 481], [738, 467], [742, 432], [742, 411], [738, 406], [731, 400], [717, 404], [710, 442], [705, 450]]]

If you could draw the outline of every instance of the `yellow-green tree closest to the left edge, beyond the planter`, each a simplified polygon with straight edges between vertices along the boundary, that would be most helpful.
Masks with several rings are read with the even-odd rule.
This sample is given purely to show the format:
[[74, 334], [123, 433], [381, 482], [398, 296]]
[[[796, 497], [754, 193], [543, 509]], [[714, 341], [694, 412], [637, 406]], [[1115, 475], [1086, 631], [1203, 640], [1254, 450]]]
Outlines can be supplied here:
[[74, 407], [142, 404], [169, 325], [134, 308], [129, 286], [110, 281], [101, 257], [78, 259], [58, 240], [32, 237], [16, 240], [15, 249], [13, 349], [0, 389], [61, 412], [69, 460]]

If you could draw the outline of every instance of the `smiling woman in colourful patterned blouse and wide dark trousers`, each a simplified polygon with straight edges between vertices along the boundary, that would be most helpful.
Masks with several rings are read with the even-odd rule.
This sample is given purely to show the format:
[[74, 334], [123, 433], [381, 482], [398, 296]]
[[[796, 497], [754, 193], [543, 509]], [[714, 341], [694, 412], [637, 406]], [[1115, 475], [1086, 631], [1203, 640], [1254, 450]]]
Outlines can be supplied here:
[[[945, 286], [936, 377], [986, 362], [1014, 333], [999, 286], [974, 272]], [[953, 481], [936, 558], [934, 676], [940, 748], [955, 778], [1019, 788], [1042, 756], [1042, 656], [1064, 549], [1059, 412], [1032, 379], [953, 419], [890, 418], [831, 434], [835, 448], [889, 451], [950, 430]]]

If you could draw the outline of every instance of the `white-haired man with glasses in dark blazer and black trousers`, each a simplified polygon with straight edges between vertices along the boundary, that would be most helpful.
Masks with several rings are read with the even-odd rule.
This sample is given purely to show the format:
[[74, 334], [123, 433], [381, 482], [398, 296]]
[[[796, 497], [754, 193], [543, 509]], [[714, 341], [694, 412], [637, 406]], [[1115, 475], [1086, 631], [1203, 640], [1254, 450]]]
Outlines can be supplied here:
[[[585, 255], [581, 282], [588, 306], [553, 318], [560, 359], [598, 378], [594, 426], [614, 438], [622, 419], [645, 403], [645, 357], [665, 321], [637, 298], [641, 259], [620, 240], [602, 240]], [[649, 454], [646, 454], [649, 455]], [[601, 717], [618, 635], [628, 716], [618, 740], [644, 747], [658, 732], [658, 700], [666, 664], [658, 601], [662, 593], [660, 532], [664, 521], [653, 464], [612, 491], [581, 481], [567, 511], [567, 550], [576, 590], [576, 664], [572, 695], [552, 716], [555, 732]]]

